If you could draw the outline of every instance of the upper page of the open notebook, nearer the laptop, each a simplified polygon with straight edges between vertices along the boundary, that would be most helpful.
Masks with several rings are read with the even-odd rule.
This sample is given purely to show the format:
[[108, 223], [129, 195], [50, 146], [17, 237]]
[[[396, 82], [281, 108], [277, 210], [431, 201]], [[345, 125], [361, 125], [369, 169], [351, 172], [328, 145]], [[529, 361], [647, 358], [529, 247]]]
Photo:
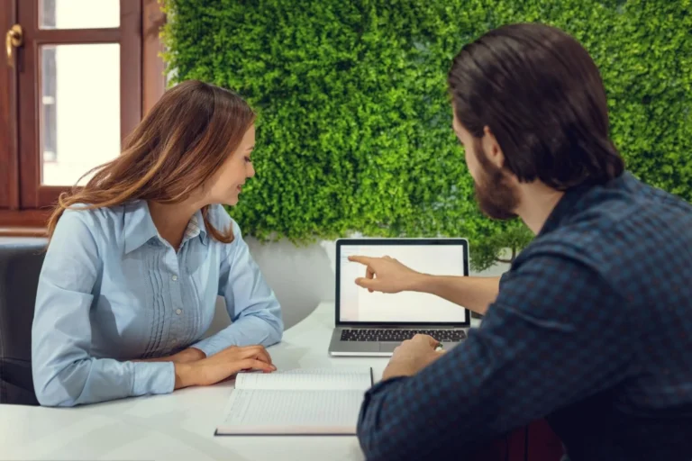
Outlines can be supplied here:
[[367, 391], [372, 385], [369, 368], [313, 368], [239, 373], [236, 389], [315, 389]]

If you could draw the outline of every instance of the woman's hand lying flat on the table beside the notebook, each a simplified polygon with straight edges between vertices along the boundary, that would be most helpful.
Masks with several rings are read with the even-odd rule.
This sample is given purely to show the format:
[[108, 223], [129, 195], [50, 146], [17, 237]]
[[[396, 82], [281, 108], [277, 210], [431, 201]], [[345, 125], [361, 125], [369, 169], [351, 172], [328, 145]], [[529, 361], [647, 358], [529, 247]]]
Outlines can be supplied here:
[[267, 349], [262, 346], [232, 346], [212, 357], [176, 364], [176, 389], [190, 385], [216, 384], [241, 370], [276, 371]]

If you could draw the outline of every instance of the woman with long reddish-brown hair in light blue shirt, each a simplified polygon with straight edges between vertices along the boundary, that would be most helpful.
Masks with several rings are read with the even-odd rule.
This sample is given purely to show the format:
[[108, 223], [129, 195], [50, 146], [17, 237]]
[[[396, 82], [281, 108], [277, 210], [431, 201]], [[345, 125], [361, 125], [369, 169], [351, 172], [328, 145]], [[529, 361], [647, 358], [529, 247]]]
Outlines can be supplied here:
[[[255, 115], [241, 97], [187, 81], [168, 90], [49, 221], [32, 326], [41, 405], [170, 393], [276, 368], [275, 295], [234, 205], [254, 176]], [[232, 325], [201, 339], [225, 298]]]

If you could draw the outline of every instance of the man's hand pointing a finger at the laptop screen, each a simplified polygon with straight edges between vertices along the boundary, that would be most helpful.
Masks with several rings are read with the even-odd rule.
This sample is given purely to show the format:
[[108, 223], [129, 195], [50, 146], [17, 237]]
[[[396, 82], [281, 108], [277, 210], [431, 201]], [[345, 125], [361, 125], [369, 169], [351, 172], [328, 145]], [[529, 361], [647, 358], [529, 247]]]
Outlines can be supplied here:
[[410, 267], [406, 267], [395, 258], [369, 258], [365, 256], [350, 256], [349, 261], [366, 266], [365, 277], [356, 279], [356, 285], [368, 288], [370, 293], [399, 293], [412, 290], [416, 283], [424, 277]]

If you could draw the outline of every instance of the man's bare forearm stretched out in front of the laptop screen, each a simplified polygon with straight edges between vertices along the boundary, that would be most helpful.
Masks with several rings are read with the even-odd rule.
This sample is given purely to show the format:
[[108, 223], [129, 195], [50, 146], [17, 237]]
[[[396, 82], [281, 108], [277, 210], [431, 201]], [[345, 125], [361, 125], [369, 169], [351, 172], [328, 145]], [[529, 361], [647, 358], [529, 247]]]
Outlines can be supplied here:
[[416, 277], [411, 291], [435, 294], [451, 303], [484, 315], [499, 291], [500, 277], [429, 276]]

